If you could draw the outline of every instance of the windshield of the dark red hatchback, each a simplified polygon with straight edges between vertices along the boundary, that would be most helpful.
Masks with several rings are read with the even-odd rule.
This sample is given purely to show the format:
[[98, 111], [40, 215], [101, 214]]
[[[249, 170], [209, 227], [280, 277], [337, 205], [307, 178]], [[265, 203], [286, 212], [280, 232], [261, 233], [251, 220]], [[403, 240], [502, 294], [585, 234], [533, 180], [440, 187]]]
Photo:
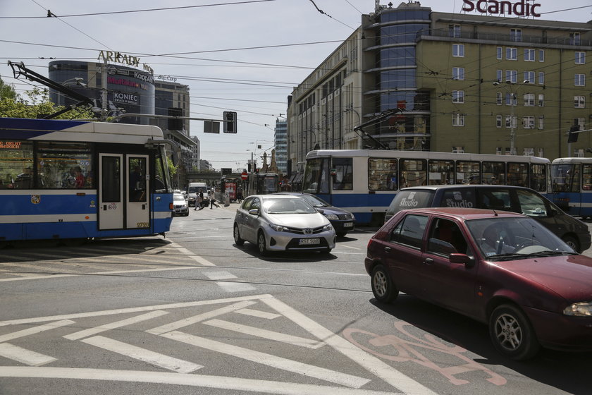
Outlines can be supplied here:
[[465, 223], [488, 260], [575, 254], [560, 238], [531, 218], [491, 217]]

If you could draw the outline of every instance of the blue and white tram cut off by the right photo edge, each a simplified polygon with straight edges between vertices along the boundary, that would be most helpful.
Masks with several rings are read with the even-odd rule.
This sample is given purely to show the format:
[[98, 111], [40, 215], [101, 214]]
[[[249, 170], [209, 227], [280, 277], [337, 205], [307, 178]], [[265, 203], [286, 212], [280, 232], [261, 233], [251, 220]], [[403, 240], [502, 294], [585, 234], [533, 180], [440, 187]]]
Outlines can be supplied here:
[[550, 200], [574, 217], [592, 217], [592, 158], [557, 158], [551, 164]]

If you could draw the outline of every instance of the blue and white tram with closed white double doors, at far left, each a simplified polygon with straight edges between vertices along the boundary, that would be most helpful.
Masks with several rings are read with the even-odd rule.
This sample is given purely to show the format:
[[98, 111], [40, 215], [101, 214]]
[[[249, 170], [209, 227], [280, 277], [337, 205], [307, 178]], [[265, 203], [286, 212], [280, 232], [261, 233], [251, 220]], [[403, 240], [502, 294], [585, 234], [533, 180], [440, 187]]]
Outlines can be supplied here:
[[164, 235], [166, 143], [156, 126], [0, 118], [0, 245]]

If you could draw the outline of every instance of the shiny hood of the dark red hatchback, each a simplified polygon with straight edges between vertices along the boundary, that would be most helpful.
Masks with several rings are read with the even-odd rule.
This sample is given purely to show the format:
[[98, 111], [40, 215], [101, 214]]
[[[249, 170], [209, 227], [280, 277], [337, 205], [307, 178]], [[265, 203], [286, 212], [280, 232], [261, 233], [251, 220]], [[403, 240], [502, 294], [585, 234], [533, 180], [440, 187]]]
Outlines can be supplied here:
[[566, 300], [592, 301], [592, 259], [584, 255], [537, 257], [495, 264], [549, 288]]

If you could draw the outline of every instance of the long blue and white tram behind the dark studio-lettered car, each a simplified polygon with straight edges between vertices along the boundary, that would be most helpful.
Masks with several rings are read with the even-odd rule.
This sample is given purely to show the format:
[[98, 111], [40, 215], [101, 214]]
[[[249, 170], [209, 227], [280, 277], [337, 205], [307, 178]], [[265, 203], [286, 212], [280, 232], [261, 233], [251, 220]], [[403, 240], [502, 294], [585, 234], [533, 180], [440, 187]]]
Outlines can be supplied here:
[[407, 186], [499, 184], [546, 194], [550, 161], [540, 157], [390, 150], [316, 150], [307, 154], [302, 192], [382, 224], [397, 190]]

